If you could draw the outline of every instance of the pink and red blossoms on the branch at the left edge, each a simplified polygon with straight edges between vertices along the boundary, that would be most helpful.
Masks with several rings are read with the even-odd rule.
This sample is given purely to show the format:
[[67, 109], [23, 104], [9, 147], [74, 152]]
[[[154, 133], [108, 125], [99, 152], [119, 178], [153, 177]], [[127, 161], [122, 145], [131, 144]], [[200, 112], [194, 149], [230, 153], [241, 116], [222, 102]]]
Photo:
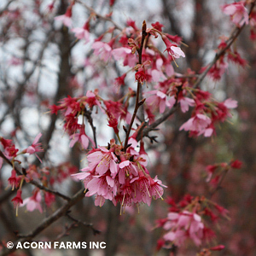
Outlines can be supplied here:
[[[16, 189], [17, 191], [15, 197], [12, 199], [14, 207], [16, 208], [16, 214], [18, 208], [24, 206], [26, 206], [26, 209], [30, 212], [36, 209], [38, 209], [39, 212], [43, 212], [44, 203], [46, 207], [50, 207], [55, 201], [55, 195], [50, 191], [42, 189], [42, 185], [40, 184], [43, 184], [46, 188], [48, 188], [49, 185], [53, 187], [55, 183], [61, 183], [64, 179], [70, 177], [71, 174], [78, 172], [77, 168], [70, 163], [61, 163], [59, 166], [51, 169], [29, 165], [26, 170], [24, 169], [21, 173], [15, 166], [15, 163], [18, 163], [19, 165], [21, 164], [21, 161], [17, 158], [19, 155], [34, 154], [42, 163], [42, 160], [37, 155], [37, 152], [43, 151], [41, 143], [38, 143], [40, 137], [42, 137], [41, 133], [35, 137], [31, 146], [21, 151], [19, 151], [18, 148], [15, 148], [15, 144], [12, 140], [0, 137], [0, 143], [3, 146], [3, 151], [1, 151], [2, 157], [0, 156], [0, 168], [3, 166], [3, 160], [8, 161], [9, 164], [13, 166], [8, 183], [12, 190]], [[33, 181], [38, 181], [39, 183], [37, 184], [39, 184], [39, 187], [33, 189], [32, 196], [23, 201], [21, 196], [23, 183], [31, 183]]]

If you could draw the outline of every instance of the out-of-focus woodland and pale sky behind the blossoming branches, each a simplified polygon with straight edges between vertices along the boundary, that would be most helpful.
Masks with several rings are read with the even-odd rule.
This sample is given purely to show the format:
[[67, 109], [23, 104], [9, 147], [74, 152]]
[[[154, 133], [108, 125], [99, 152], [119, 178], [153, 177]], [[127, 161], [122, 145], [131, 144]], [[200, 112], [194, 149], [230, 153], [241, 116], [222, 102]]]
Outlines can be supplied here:
[[[177, 73], [184, 73], [188, 68], [200, 73], [201, 67], [212, 61], [221, 38], [229, 37], [234, 28], [229, 16], [220, 9], [224, 3], [233, 3], [228, 0], [116, 0], [112, 8], [109, 1], [104, 0], [81, 2], [101, 15], [113, 11], [112, 18], [121, 27], [125, 27], [129, 18], [138, 27], [142, 26], [143, 20], [148, 26], [159, 21], [164, 25], [164, 32], [183, 37], [189, 47], [183, 47], [186, 58], [178, 60], [178, 67], [174, 67]], [[82, 184], [69, 176], [86, 166], [86, 160], [83, 160], [86, 152], [79, 146], [68, 147], [61, 117], [47, 113], [49, 105], [67, 95], [85, 95], [87, 90], [96, 88], [102, 90], [102, 95], [114, 98], [113, 90], [106, 90], [105, 85], [112, 88], [113, 80], [125, 67], [98, 61], [90, 49], [92, 41], [88, 44], [77, 42], [73, 32], [54, 20], [56, 15], [66, 12], [69, 2], [56, 0], [53, 11], [49, 12], [51, 3], [53, 1], [47, 0], [2, 0], [0, 3], [0, 136], [14, 140], [19, 148], [26, 148], [41, 131], [43, 166], [33, 156], [20, 160], [25, 167], [33, 163], [47, 168], [58, 180], [54, 188], [71, 196], [82, 188]], [[88, 9], [76, 3], [73, 27], [83, 26], [89, 15]], [[111, 24], [106, 20], [94, 20], [90, 26], [91, 39], [100, 36], [109, 26]], [[159, 143], [150, 143], [147, 139], [145, 143], [151, 176], [158, 175], [168, 186], [165, 199], [171, 196], [175, 201], [186, 194], [207, 195], [207, 165], [235, 159], [242, 161], [242, 168], [229, 172], [222, 188], [212, 198], [230, 211], [230, 221], [223, 220], [218, 224], [216, 239], [225, 249], [216, 255], [253, 256], [256, 255], [256, 50], [247, 28], [233, 47], [247, 60], [246, 67], [230, 64], [222, 79], [205, 79], [202, 83], [202, 89], [212, 92], [218, 101], [230, 97], [238, 102], [230, 122], [219, 126], [215, 137], [193, 138], [187, 132], [178, 131], [189, 113], [177, 111], [160, 126], [160, 131], [152, 132]], [[132, 73], [126, 85], [135, 88]], [[113, 137], [111, 129], [106, 128], [107, 120], [102, 120], [99, 115], [94, 119], [98, 144], [107, 145]], [[88, 133], [91, 134], [90, 129]], [[0, 172], [0, 241], [15, 241], [16, 231], [28, 233], [61, 206], [61, 200], [56, 198], [51, 207], [46, 209], [44, 206], [42, 214], [27, 212], [26, 207], [22, 207], [16, 218], [10, 201], [15, 192], [7, 182], [10, 172], [10, 167], [3, 164]], [[27, 186], [24, 198], [31, 195], [32, 189]], [[83, 224], [68, 230], [72, 220], [63, 217], [36, 240], [105, 241], [108, 245], [104, 250], [63, 251], [61, 255], [169, 255], [164, 249], [156, 252], [156, 243], [162, 233], [154, 229], [156, 219], [166, 218], [168, 207], [166, 201], [153, 201], [151, 207], [141, 206], [140, 214], [136, 208], [130, 208], [120, 216], [119, 207], [114, 207], [112, 202], [108, 201], [100, 208], [94, 206], [92, 198], [85, 198], [71, 209], [70, 214], [81, 222], [93, 224], [100, 234], [95, 235], [96, 232]], [[177, 255], [189, 256], [196, 252], [196, 247], [188, 246], [178, 250]], [[37, 254], [34, 250], [22, 253]]]

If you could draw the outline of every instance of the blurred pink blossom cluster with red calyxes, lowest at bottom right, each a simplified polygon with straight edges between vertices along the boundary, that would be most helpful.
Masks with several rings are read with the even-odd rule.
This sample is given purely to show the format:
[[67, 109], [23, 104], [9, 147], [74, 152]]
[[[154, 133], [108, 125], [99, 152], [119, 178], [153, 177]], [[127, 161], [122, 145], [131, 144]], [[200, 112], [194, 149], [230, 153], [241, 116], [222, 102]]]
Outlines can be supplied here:
[[[158, 241], [159, 249], [181, 247], [188, 241], [193, 241], [197, 247], [203, 247], [215, 237], [214, 231], [207, 227], [207, 220], [210, 218], [213, 224], [217, 224], [220, 217], [228, 218], [228, 211], [224, 207], [204, 196], [185, 195], [178, 203], [172, 198], [167, 199], [167, 202], [171, 206], [167, 217], [158, 220], [158, 226], [166, 230]], [[224, 246], [218, 245], [209, 250], [223, 248]]]

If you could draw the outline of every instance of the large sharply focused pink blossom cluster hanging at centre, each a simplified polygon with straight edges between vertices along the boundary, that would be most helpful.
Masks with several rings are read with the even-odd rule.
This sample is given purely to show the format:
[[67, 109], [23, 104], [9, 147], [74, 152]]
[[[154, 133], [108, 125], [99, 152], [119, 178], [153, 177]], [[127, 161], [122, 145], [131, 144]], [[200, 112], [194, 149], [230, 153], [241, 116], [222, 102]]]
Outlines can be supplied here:
[[125, 153], [112, 140], [108, 148], [92, 149], [87, 156], [88, 166], [74, 174], [84, 182], [85, 196], [96, 195], [95, 205], [105, 200], [120, 202], [121, 211], [133, 203], [146, 203], [162, 198], [164, 186], [157, 177], [150, 177], [146, 161], [131, 146]]

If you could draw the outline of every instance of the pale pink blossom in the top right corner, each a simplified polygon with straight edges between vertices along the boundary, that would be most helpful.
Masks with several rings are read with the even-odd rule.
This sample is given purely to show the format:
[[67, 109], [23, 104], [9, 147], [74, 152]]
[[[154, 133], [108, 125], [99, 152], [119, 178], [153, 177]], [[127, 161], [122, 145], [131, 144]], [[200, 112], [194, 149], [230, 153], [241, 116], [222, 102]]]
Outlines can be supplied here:
[[222, 7], [225, 15], [230, 15], [231, 20], [236, 26], [242, 26], [244, 23], [249, 23], [249, 15], [243, 2], [225, 4]]

